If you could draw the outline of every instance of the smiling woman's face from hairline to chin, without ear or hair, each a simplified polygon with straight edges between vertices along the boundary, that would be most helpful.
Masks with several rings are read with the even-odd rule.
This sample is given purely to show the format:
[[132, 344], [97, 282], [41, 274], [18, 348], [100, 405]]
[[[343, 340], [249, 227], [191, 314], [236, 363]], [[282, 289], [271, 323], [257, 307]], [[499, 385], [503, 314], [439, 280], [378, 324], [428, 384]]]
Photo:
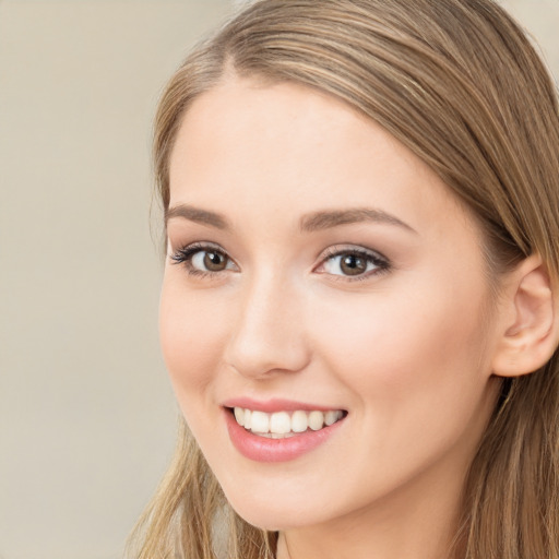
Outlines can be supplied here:
[[421, 160], [332, 97], [229, 80], [182, 121], [167, 230], [165, 361], [241, 516], [456, 496], [498, 328], [478, 229]]

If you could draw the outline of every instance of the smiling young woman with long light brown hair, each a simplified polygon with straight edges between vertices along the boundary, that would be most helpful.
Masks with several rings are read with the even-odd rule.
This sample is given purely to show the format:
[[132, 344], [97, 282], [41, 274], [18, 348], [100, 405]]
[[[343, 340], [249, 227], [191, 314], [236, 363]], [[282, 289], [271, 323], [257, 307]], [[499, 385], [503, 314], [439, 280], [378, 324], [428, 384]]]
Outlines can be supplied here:
[[263, 0], [160, 102], [153, 559], [558, 559], [559, 117], [490, 0]]

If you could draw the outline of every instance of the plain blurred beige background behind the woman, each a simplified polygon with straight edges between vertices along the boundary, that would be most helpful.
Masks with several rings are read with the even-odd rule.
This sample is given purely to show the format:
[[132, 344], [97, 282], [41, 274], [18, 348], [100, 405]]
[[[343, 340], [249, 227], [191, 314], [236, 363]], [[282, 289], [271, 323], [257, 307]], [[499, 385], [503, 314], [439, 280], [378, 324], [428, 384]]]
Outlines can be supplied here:
[[[0, 559], [119, 557], [171, 454], [151, 120], [240, 3], [0, 0]], [[503, 3], [559, 75], [559, 0]]]

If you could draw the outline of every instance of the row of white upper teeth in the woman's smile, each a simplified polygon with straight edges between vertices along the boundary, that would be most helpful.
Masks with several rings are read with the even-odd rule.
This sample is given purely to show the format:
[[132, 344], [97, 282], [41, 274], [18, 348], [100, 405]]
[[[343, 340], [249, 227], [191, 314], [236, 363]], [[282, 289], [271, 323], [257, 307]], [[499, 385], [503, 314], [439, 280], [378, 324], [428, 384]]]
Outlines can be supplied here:
[[275, 412], [266, 414], [242, 407], [235, 407], [235, 419], [237, 423], [257, 435], [272, 438], [293, 437], [297, 432], [304, 432], [307, 429], [318, 431], [324, 426], [335, 424], [342, 419], [344, 413], [341, 409], [330, 412]]

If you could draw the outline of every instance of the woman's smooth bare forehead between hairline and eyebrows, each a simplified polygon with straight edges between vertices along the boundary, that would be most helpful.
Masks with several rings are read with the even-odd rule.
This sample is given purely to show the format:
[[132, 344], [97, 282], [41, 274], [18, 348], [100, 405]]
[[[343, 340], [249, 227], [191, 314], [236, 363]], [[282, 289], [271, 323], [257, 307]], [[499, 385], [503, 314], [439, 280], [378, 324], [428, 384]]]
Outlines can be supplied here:
[[441, 234], [445, 217], [471, 225], [441, 179], [384, 129], [293, 83], [234, 79], [202, 94], [181, 122], [169, 178], [170, 206], [243, 211], [264, 224], [367, 205]]

